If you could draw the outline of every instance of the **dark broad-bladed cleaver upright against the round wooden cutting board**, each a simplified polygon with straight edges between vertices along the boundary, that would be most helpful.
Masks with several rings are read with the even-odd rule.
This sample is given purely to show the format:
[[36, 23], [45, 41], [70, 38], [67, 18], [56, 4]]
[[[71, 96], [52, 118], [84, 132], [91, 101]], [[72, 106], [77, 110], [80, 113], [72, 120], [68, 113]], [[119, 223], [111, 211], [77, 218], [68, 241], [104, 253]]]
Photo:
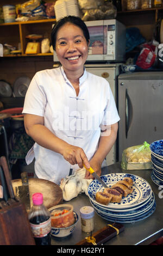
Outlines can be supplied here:
[[26, 205], [27, 212], [30, 210], [30, 197], [27, 172], [21, 173], [22, 186], [16, 187], [16, 196]]

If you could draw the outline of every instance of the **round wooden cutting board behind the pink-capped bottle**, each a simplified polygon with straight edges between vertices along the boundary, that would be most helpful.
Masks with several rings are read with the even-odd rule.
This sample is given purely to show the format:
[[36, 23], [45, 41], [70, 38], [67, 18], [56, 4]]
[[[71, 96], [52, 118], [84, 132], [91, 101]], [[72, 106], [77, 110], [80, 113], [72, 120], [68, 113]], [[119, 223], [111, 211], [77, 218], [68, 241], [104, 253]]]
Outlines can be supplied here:
[[[14, 194], [16, 196], [16, 187], [22, 186], [22, 180], [17, 179], [17, 180], [12, 180], [11, 182], [12, 182], [12, 187], [14, 189]], [[62, 203], [62, 190], [57, 184], [48, 180], [36, 179], [36, 178], [29, 178], [28, 184], [29, 184], [30, 206], [33, 205], [32, 195], [37, 192], [43, 194], [43, 204], [47, 207], [47, 209]]]

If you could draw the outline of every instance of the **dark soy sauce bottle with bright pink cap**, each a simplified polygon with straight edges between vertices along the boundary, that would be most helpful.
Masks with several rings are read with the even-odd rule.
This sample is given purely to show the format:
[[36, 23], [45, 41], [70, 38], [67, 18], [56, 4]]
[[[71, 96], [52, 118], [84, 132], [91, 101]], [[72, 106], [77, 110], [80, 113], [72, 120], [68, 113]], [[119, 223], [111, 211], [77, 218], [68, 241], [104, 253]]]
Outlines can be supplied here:
[[33, 207], [28, 218], [36, 245], [51, 245], [51, 214], [43, 205], [42, 193], [32, 196]]

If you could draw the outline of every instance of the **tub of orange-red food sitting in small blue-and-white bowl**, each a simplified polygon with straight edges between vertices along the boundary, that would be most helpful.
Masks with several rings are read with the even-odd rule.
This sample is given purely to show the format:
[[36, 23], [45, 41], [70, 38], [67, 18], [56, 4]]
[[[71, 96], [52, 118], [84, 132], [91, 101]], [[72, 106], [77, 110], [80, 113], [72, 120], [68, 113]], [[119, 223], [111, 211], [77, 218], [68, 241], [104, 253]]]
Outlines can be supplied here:
[[73, 206], [70, 204], [60, 204], [54, 206], [51, 212], [52, 227], [66, 228], [74, 223]]

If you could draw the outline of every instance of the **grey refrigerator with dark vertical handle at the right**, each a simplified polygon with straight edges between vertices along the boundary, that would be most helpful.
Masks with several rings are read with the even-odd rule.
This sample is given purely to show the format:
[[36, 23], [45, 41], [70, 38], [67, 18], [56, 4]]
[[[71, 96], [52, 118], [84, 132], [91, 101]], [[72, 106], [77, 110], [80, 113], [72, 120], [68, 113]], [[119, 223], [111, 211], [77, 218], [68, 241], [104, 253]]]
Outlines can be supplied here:
[[163, 139], [163, 73], [135, 72], [118, 76], [118, 161], [123, 150]]

